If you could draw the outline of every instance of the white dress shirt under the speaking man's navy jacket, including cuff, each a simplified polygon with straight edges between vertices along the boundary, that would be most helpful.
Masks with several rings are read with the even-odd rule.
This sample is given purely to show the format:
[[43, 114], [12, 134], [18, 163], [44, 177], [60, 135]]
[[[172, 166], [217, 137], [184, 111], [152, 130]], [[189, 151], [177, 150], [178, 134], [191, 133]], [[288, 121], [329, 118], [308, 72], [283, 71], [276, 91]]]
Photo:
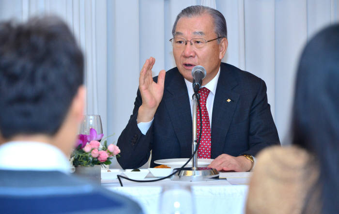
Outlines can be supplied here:
[[[206, 108], [207, 108], [207, 112], [208, 112], [208, 117], [210, 119], [210, 125], [212, 125], [212, 111], [213, 111], [214, 97], [216, 95], [216, 85], [218, 83], [219, 75], [220, 75], [220, 67], [219, 67], [219, 71], [216, 74], [216, 76], [211, 81], [209, 81], [206, 85], [201, 86], [202, 88], [206, 87], [208, 90], [210, 90], [210, 93], [208, 94], [208, 97], [207, 97], [207, 100], [206, 100]], [[193, 91], [192, 83], [190, 81], [185, 79], [185, 83], [186, 83], [187, 92], [188, 92], [189, 104], [191, 106], [191, 115], [193, 117], [193, 113], [192, 113], [193, 98], [192, 98], [192, 95], [193, 95], [194, 91]], [[154, 120], [154, 118], [150, 122], [139, 122], [138, 123], [138, 128], [143, 135], [146, 135], [148, 129], [152, 125], [153, 120]]]

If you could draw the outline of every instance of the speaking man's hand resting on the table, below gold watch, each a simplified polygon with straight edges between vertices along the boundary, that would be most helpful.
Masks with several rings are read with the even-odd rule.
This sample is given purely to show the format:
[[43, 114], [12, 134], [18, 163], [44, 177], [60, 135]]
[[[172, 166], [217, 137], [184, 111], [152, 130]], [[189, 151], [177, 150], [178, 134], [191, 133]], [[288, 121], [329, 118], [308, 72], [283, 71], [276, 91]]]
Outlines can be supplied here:
[[228, 154], [220, 154], [208, 167], [215, 168], [218, 171], [234, 170], [237, 172], [245, 172], [251, 169], [252, 163], [243, 155], [234, 157]]

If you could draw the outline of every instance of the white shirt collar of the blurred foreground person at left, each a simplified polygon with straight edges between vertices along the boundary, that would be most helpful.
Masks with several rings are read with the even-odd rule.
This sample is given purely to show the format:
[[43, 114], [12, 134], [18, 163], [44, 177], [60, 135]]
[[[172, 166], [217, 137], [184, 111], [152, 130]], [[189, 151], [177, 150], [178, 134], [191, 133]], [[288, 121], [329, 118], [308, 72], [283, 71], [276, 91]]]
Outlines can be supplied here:
[[57, 147], [35, 141], [11, 141], [0, 145], [0, 169], [62, 171], [69, 173], [70, 162]]

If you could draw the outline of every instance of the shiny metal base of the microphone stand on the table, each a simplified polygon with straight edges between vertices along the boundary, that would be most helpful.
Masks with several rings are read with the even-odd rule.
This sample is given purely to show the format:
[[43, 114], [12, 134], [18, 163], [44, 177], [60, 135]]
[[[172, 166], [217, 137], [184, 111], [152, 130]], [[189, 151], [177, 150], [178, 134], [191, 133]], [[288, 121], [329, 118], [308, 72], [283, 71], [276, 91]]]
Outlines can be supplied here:
[[219, 176], [219, 172], [214, 168], [186, 167], [175, 173], [170, 180], [172, 181], [209, 181], [211, 178]]

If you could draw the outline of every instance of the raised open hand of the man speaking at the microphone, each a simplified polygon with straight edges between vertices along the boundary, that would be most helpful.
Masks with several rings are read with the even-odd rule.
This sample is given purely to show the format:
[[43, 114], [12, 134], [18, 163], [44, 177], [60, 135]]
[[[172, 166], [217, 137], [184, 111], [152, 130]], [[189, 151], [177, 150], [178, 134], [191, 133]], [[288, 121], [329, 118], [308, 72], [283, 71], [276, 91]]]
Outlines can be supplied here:
[[159, 72], [158, 81], [155, 83], [152, 78], [152, 68], [155, 59], [147, 59], [140, 71], [139, 90], [142, 99], [142, 105], [139, 107], [139, 122], [152, 121], [155, 111], [160, 104], [164, 94], [165, 70]]

